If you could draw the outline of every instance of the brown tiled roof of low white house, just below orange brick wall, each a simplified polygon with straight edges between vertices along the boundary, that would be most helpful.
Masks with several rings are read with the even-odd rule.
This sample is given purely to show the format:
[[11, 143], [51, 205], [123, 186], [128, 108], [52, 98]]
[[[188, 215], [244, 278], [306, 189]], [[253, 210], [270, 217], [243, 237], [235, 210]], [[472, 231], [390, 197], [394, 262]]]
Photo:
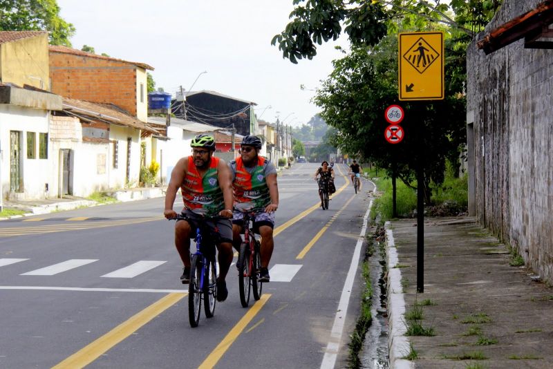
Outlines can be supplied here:
[[138, 119], [135, 119], [131, 115], [127, 115], [118, 111], [115, 108], [109, 108], [102, 104], [95, 104], [93, 102], [87, 102], [83, 100], [66, 99], [63, 102], [64, 111], [73, 113], [79, 117], [88, 117], [91, 120], [102, 120], [104, 122], [110, 122], [113, 124], [120, 124], [123, 126], [130, 126], [142, 131], [148, 131], [151, 133], [159, 133], [156, 129], [144, 124]]

